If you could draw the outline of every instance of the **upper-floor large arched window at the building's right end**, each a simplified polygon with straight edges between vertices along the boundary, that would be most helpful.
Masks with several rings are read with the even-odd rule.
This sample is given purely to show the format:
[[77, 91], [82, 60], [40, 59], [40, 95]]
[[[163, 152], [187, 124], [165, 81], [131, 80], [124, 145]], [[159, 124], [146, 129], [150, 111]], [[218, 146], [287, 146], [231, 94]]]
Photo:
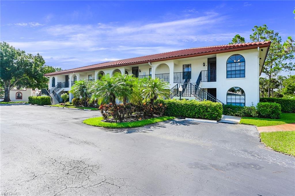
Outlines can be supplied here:
[[226, 78], [244, 78], [245, 59], [240, 54], [234, 54], [226, 62]]

